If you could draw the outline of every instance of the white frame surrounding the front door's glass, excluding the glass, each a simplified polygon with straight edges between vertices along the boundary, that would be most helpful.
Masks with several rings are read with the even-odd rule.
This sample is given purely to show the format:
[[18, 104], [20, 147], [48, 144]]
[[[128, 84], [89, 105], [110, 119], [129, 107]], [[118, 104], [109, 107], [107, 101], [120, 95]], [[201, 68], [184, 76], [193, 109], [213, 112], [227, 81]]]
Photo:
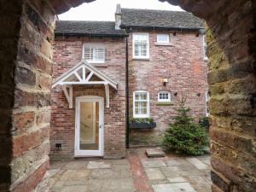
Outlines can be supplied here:
[[[99, 102], [99, 150], [80, 150], [80, 103]], [[76, 97], [75, 110], [75, 157], [103, 156], [104, 149], [104, 99], [101, 96], [78, 96]]]

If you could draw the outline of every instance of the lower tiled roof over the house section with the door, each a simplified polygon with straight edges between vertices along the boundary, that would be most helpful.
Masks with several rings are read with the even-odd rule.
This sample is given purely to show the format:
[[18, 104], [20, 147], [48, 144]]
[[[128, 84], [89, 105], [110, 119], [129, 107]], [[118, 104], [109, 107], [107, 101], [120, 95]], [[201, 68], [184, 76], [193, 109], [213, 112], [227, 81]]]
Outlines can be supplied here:
[[55, 36], [107, 36], [124, 37], [124, 30], [115, 30], [111, 21], [57, 20]]

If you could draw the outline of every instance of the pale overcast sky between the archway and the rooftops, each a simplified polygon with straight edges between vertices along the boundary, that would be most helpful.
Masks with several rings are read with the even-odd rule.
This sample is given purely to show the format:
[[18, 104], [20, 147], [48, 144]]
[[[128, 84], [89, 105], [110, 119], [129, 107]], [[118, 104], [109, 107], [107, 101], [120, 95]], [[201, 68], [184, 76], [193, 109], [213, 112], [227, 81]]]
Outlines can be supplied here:
[[114, 20], [117, 3], [120, 3], [121, 8], [183, 11], [178, 6], [161, 3], [158, 0], [96, 0], [72, 8], [58, 16], [60, 20]]

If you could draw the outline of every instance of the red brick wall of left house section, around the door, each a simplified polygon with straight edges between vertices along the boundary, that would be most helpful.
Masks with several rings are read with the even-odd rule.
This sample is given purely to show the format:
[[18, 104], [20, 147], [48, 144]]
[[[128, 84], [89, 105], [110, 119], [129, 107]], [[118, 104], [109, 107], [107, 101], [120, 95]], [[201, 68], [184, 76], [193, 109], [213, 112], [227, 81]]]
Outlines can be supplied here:
[[[55, 38], [54, 78], [82, 59], [82, 44], [103, 43], [106, 59], [104, 67], [98, 67], [110, 79], [118, 83], [118, 90], [110, 88], [110, 106], [104, 108], [104, 157], [125, 156], [125, 39], [124, 38]], [[74, 86], [73, 106], [76, 96], [102, 96], [104, 86]], [[75, 108], [69, 109], [67, 99], [60, 87], [52, 90], [51, 157], [73, 158]], [[56, 149], [55, 143], [62, 148]]]

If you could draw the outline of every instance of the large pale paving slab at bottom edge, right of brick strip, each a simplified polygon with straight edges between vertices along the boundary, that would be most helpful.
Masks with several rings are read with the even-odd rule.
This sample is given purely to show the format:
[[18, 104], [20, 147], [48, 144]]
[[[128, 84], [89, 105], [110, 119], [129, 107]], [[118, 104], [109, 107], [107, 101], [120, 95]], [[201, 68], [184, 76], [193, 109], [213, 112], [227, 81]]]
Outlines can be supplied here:
[[196, 192], [190, 183], [164, 183], [153, 185], [154, 192]]

